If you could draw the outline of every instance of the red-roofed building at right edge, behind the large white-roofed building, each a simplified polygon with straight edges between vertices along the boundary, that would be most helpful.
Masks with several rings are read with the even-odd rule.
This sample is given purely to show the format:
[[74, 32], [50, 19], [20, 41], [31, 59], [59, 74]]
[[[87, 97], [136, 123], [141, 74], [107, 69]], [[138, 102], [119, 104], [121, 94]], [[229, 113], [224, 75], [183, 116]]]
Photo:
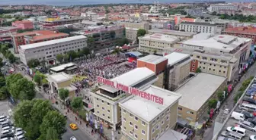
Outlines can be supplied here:
[[251, 39], [251, 43], [255, 45], [256, 42], [256, 27], [253, 26], [238, 26], [227, 28], [222, 32], [223, 35], [245, 37]]

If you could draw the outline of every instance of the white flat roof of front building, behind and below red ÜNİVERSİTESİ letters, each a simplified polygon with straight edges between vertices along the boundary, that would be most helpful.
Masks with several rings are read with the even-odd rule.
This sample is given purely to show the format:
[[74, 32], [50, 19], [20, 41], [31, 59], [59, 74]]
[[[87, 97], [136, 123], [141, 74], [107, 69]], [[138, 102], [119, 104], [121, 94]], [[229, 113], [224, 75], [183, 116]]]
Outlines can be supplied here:
[[179, 94], [156, 86], [148, 86], [143, 91], [164, 98], [164, 104], [158, 104], [146, 100], [145, 98], [140, 98], [139, 96], [133, 96], [132, 98], [127, 98], [126, 100], [121, 101], [120, 106], [147, 122], [155, 119], [155, 117], [166, 110], [167, 107], [171, 106], [171, 104], [174, 104], [181, 98], [181, 95]]

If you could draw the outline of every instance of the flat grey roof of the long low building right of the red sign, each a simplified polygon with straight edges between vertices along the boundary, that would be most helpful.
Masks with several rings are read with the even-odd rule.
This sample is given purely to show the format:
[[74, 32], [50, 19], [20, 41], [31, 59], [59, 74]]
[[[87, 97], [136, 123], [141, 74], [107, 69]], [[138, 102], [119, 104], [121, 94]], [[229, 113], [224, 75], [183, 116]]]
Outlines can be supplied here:
[[179, 105], [190, 110], [199, 110], [225, 80], [226, 77], [198, 73], [175, 91], [182, 95]]

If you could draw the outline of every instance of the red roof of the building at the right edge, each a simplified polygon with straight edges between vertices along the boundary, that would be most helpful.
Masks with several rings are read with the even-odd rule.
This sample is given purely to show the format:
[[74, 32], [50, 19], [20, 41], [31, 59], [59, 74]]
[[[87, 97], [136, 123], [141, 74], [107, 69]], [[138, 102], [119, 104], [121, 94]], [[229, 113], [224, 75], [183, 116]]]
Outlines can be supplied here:
[[239, 26], [239, 27], [233, 27], [233, 28], [226, 28], [224, 33], [225, 32], [256, 35], [256, 27], [253, 27], [253, 26]]

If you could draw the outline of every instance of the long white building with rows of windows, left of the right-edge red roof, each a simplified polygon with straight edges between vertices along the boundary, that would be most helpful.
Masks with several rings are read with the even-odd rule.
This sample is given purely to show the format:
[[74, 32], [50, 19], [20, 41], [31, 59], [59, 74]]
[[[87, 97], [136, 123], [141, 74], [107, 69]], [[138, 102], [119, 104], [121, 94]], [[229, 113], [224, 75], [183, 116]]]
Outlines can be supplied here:
[[191, 33], [221, 34], [222, 28], [216, 23], [183, 22], [179, 24], [179, 30]]

